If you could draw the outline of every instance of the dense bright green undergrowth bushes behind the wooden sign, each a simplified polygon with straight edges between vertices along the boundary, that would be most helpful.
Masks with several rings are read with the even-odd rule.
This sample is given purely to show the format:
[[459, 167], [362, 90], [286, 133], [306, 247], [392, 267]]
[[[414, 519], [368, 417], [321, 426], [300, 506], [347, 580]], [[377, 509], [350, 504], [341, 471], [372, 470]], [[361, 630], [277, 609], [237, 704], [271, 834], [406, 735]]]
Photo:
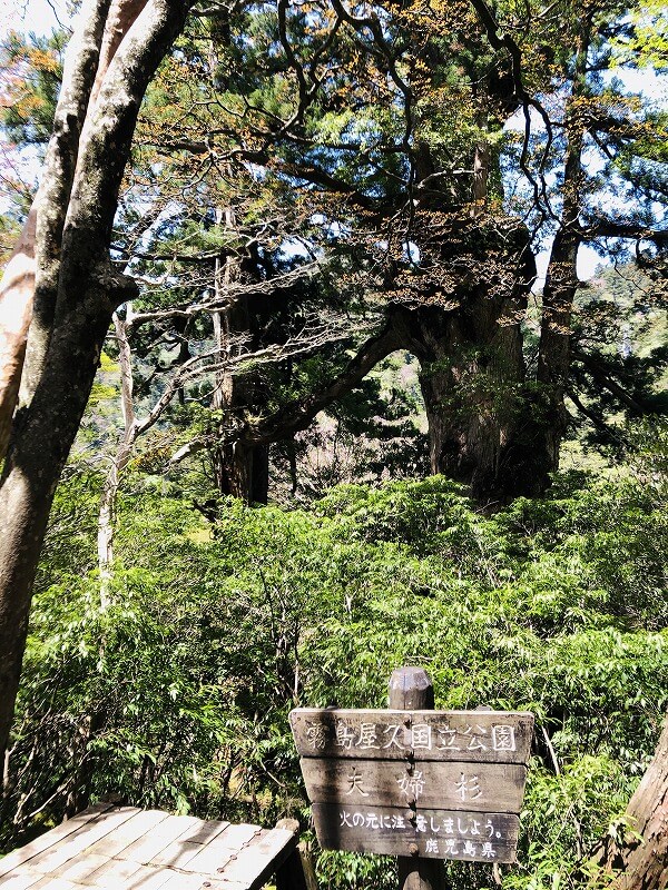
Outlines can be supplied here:
[[[562, 482], [485, 516], [433, 477], [340, 486], [308, 512], [226, 500], [207, 522], [138, 477], [104, 604], [89, 488], [62, 486], [40, 570], [6, 848], [111, 792], [306, 828], [289, 709], [385, 706], [401, 664], [428, 669], [436, 708], [536, 714], [507, 887], [566, 882], [623, 811], [668, 704], [665, 486]], [[448, 872], [462, 890], [492, 882]], [[380, 858], [322, 854], [320, 873], [334, 890], [395, 883]]]

